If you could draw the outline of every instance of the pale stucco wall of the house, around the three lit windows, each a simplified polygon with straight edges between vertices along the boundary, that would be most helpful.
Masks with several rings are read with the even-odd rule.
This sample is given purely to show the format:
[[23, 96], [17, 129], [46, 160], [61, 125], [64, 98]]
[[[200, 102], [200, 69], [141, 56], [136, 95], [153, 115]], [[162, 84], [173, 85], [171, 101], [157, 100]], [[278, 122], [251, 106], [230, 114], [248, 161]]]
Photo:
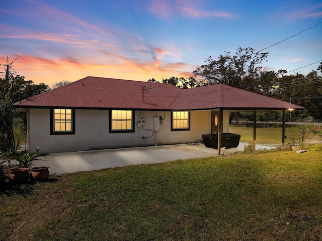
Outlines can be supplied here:
[[[135, 132], [109, 133], [109, 110], [75, 110], [74, 135], [50, 135], [50, 109], [29, 109], [29, 146], [37, 146], [42, 153], [72, 152], [94, 149], [155, 145], [154, 116], [161, 116], [157, 145], [189, 143], [202, 140], [211, 130], [211, 111], [191, 111], [190, 131], [171, 131], [171, 112], [135, 111]], [[138, 128], [137, 122], [146, 124]], [[142, 139], [144, 137], [144, 139]]]

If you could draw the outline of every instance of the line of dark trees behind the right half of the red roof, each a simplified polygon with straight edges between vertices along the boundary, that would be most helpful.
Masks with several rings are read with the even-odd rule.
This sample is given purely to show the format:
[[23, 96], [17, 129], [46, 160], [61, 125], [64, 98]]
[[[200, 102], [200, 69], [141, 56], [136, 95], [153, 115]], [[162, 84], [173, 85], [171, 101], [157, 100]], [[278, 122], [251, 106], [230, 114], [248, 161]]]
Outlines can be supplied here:
[[[300, 73], [286, 75], [288, 72], [283, 69], [277, 72], [262, 70], [268, 54], [251, 47], [238, 47], [234, 54], [224, 52], [216, 59], [210, 56], [188, 79], [171, 77], [157, 81], [152, 78], [148, 82], [168, 83], [181, 88], [226, 84], [303, 106], [306, 114], [321, 119], [322, 77], [318, 74], [322, 71], [322, 62], [306, 76]], [[292, 114], [288, 121], [296, 121], [300, 114]]]

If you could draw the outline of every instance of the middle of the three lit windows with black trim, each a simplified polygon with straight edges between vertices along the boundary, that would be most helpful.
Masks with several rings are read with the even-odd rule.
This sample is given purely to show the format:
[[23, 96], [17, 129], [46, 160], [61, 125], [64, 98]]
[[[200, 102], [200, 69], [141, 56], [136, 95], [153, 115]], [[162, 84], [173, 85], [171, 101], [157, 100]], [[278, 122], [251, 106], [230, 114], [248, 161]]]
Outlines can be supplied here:
[[110, 133], [134, 132], [134, 111], [110, 110]]

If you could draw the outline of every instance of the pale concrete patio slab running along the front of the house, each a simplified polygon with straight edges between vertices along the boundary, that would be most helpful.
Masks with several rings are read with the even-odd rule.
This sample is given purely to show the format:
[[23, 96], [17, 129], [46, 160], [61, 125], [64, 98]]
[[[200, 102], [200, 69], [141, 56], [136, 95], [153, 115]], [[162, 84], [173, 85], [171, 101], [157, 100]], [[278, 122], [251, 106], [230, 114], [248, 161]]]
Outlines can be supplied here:
[[[227, 149], [225, 153], [244, 151], [244, 144]], [[34, 161], [35, 166], [48, 166], [49, 174], [65, 174], [80, 171], [93, 171], [113, 167], [140, 164], [155, 164], [179, 159], [218, 156], [216, 149], [200, 145], [169, 145], [157, 147], [138, 147], [107, 149], [50, 154], [44, 161]]]

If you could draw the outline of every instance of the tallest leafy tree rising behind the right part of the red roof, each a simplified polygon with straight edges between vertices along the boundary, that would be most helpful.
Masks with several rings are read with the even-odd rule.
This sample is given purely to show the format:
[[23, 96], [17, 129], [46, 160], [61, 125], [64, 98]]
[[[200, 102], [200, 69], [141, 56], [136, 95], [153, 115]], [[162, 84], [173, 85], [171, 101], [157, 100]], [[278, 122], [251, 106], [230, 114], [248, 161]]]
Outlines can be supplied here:
[[197, 68], [193, 73], [208, 84], [222, 83], [229, 86], [260, 92], [257, 77], [262, 67], [260, 64], [266, 61], [267, 52], [255, 52], [255, 49], [239, 47], [235, 55], [230, 52], [220, 55], [217, 60], [206, 60], [207, 64]]

